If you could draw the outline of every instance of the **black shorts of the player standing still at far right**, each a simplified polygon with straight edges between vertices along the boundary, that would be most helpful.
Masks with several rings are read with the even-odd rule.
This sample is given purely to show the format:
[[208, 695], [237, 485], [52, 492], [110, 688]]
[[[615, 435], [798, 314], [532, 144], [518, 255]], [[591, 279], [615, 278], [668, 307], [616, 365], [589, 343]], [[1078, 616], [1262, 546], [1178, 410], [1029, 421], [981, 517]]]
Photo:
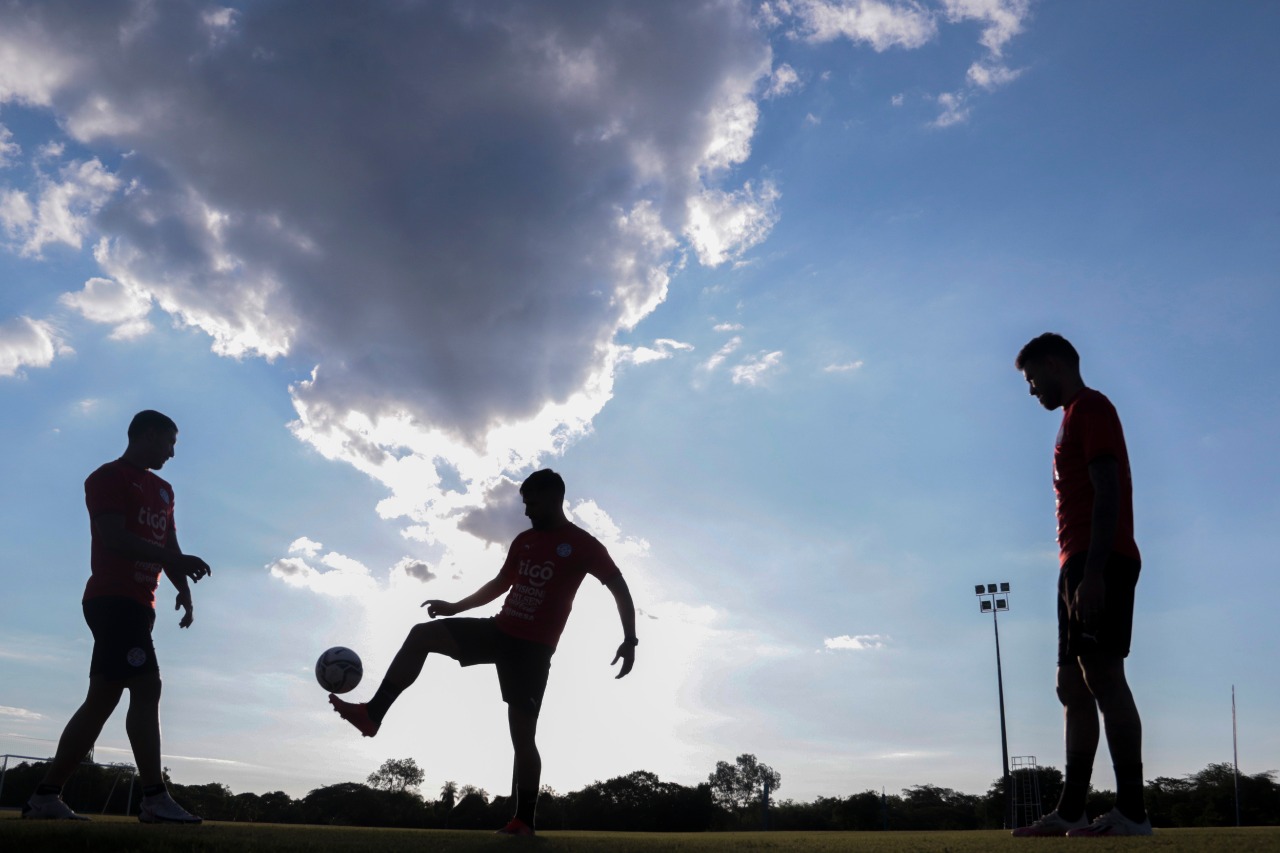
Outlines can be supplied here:
[[1106, 598], [1102, 616], [1094, 630], [1068, 613], [1066, 602], [1084, 579], [1088, 552], [1066, 558], [1057, 578], [1057, 665], [1074, 665], [1076, 658], [1092, 656], [1129, 657], [1133, 638], [1133, 593], [1138, 587], [1142, 564], [1133, 557], [1114, 553], [1102, 570]]

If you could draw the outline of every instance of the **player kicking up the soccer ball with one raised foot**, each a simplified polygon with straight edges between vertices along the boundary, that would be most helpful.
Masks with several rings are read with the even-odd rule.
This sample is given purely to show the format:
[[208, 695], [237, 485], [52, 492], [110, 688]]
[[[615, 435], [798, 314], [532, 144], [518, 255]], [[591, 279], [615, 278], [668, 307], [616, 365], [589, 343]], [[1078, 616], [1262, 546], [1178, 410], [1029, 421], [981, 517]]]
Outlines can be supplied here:
[[612, 661], [622, 661], [617, 678], [631, 671], [639, 640], [627, 581], [604, 546], [566, 517], [561, 475], [550, 469], [534, 471], [520, 487], [520, 496], [530, 529], [511, 543], [498, 575], [462, 601], [422, 603], [434, 620], [481, 607], [511, 590], [502, 611], [490, 619], [443, 619], [415, 625], [367, 703], [344, 702], [332, 693], [329, 703], [362, 735], [372, 738], [387, 710], [422, 671], [428, 654], [447, 654], [462, 666], [493, 663], [516, 752], [516, 815], [499, 833], [532, 835], [543, 771], [535, 743], [538, 712], [552, 654], [586, 575], [608, 587], [618, 606], [623, 639]]

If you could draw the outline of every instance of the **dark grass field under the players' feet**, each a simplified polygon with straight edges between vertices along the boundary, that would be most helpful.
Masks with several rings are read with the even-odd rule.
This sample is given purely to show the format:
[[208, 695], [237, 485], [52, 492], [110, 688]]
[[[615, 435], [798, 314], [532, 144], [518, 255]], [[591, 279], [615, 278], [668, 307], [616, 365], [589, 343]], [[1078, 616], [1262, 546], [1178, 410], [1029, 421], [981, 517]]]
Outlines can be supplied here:
[[143, 826], [133, 818], [90, 824], [23, 821], [0, 815], [0, 850], [22, 853], [1280, 853], [1280, 827], [1157, 830], [1134, 839], [1014, 839], [1007, 833], [547, 833], [513, 839], [492, 833], [385, 830], [273, 824]]

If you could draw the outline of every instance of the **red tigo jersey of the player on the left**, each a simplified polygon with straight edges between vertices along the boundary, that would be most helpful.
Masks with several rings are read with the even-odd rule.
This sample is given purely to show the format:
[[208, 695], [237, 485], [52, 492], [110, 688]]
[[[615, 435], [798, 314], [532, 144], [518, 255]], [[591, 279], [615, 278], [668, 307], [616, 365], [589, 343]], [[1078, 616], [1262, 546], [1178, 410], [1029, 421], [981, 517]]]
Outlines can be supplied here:
[[[136, 537], [165, 547], [173, 524], [173, 487], [151, 471], [124, 460], [108, 462], [84, 480], [88, 517], [123, 515], [124, 529]], [[159, 562], [134, 560], [111, 551], [92, 537], [88, 584], [84, 599], [124, 596], [155, 607], [156, 587], [163, 567]]]

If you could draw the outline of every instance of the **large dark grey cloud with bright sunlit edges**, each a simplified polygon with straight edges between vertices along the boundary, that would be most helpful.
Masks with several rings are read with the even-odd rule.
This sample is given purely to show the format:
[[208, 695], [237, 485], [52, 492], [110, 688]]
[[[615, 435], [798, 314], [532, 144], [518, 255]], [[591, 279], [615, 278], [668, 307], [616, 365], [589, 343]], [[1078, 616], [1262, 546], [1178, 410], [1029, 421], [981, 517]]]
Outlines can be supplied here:
[[682, 246], [722, 263], [768, 232], [776, 190], [730, 181], [772, 70], [753, 15], [8, 4], [0, 102], [51, 110], [67, 164], [118, 181], [91, 211], [106, 279], [64, 305], [114, 288], [314, 368], [298, 435], [426, 523], [589, 426]]

